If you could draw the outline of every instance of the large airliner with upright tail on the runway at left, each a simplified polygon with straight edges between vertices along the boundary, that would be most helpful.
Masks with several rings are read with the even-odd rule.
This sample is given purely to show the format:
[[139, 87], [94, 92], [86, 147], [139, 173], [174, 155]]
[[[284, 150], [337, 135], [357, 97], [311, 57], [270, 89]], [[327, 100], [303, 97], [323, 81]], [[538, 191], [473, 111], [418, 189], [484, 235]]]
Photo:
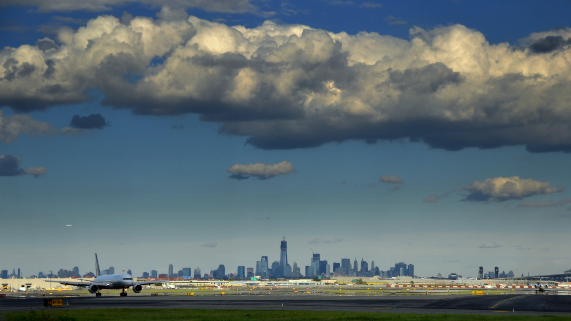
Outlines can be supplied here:
[[120, 293], [120, 296], [127, 296], [126, 290], [129, 287], [133, 287], [133, 292], [139, 293], [143, 291], [143, 286], [146, 284], [153, 284], [153, 283], [167, 283], [168, 281], [144, 281], [144, 282], [135, 282], [133, 277], [130, 274], [109, 274], [109, 275], [101, 275], [99, 272], [99, 261], [97, 260], [97, 254], [95, 253], [95, 279], [91, 280], [84, 280], [82, 281], [87, 282], [74, 282], [74, 281], [48, 281], [46, 282], [57, 282], [64, 285], [69, 286], [77, 286], [77, 287], [87, 287], [87, 291], [90, 293], [95, 293], [95, 296], [101, 296], [99, 290], [106, 289], [106, 290], [114, 290], [114, 289], [121, 289], [123, 292]]

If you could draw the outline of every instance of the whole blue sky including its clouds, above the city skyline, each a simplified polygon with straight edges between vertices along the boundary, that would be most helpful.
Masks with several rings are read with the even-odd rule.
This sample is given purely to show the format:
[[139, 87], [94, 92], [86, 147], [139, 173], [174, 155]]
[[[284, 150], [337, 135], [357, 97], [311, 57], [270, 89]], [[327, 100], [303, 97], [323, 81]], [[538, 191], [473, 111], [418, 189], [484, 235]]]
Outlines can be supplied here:
[[[2, 269], [92, 271], [98, 252], [134, 275], [232, 272], [278, 260], [284, 232], [300, 266], [571, 267], [568, 1], [25, 3], [0, 13], [0, 155], [21, 159], [0, 162]], [[139, 46], [124, 12], [163, 34]]]

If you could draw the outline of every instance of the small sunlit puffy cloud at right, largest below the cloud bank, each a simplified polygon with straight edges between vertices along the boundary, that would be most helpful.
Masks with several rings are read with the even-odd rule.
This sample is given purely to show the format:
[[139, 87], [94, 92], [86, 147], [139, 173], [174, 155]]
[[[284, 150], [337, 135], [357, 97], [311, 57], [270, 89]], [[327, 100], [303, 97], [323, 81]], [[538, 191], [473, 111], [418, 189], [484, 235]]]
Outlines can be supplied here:
[[531, 178], [524, 179], [519, 176], [486, 178], [484, 182], [476, 180], [464, 187], [468, 195], [464, 200], [510, 200], [521, 199], [533, 195], [551, 194], [565, 191], [565, 187], [551, 187], [549, 182], [540, 182]]

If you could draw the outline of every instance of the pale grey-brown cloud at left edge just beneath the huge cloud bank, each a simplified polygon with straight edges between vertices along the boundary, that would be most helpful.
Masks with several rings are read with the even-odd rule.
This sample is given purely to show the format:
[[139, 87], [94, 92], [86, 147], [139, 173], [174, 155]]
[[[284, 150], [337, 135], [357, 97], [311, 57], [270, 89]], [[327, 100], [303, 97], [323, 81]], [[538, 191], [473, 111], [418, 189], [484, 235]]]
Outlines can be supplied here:
[[58, 131], [47, 122], [38, 122], [28, 115], [5, 116], [0, 110], [0, 142], [11, 143], [19, 135], [54, 134]]

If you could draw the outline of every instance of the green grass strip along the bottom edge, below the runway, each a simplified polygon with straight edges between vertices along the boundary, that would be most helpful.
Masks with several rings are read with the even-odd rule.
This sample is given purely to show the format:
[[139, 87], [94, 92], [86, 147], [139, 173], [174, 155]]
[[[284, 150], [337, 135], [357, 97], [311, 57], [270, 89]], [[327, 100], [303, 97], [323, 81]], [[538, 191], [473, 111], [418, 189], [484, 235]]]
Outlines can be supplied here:
[[400, 314], [379, 312], [300, 311], [300, 310], [210, 310], [210, 309], [97, 309], [40, 310], [7, 312], [6, 321], [566, 321], [571, 316], [472, 315], [472, 314]]

